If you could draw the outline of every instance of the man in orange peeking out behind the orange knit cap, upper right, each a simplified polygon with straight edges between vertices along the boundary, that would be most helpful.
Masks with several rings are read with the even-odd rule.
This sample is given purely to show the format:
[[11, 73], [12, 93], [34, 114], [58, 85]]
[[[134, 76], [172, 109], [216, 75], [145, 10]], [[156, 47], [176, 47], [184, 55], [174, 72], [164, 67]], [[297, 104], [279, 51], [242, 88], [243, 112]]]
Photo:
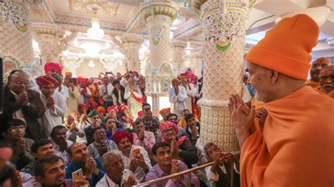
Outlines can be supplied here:
[[312, 88], [316, 89], [319, 86], [319, 75], [323, 68], [327, 67], [328, 65], [332, 65], [332, 61], [328, 58], [318, 58], [314, 61], [309, 70], [309, 74], [311, 75], [311, 79], [307, 80], [305, 84], [307, 86], [311, 86]]

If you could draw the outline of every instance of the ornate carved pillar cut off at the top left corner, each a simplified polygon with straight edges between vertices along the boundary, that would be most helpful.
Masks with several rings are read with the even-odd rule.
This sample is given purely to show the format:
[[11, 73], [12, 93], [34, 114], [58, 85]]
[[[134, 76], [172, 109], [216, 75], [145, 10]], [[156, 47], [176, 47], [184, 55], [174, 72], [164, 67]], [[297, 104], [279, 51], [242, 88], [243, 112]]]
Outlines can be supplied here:
[[29, 7], [21, 1], [0, 1], [0, 56], [4, 73], [25, 67], [34, 58]]

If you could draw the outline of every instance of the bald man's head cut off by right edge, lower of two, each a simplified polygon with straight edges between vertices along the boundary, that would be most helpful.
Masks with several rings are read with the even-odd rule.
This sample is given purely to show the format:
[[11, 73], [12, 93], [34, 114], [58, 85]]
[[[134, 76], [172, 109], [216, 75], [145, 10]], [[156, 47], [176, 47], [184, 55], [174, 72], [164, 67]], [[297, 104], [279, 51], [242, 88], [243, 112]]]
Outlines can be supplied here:
[[334, 98], [334, 65], [323, 68], [319, 75], [321, 91]]

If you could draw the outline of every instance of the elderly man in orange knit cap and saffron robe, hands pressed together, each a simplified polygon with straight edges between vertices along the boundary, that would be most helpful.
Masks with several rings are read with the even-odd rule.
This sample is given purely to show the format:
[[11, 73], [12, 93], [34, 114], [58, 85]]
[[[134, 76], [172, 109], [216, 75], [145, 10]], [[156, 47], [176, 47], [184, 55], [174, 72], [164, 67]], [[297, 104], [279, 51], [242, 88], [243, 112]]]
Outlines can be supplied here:
[[314, 20], [295, 15], [247, 54], [250, 83], [266, 112], [230, 97], [242, 186], [333, 186], [334, 101], [304, 83], [318, 34]]

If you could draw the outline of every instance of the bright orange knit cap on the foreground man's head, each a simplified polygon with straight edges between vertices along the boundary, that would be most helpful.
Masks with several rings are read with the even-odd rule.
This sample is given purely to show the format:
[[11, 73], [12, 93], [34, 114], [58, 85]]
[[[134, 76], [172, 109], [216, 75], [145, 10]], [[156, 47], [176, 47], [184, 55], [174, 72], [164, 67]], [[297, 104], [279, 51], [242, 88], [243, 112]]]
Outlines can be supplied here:
[[280, 20], [246, 56], [254, 63], [295, 79], [307, 79], [319, 27], [304, 14]]

